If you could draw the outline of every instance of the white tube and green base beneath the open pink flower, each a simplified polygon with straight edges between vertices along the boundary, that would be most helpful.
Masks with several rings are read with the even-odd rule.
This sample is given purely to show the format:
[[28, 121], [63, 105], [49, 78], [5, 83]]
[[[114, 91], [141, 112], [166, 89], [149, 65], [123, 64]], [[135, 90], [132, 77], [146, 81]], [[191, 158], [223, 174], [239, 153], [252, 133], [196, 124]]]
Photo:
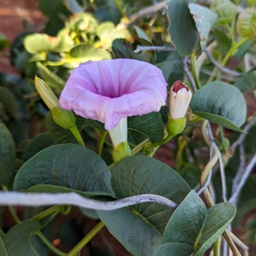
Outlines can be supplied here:
[[127, 117], [124, 117], [119, 124], [108, 131], [113, 143], [113, 160], [115, 164], [132, 155], [131, 148], [127, 142], [127, 129]]

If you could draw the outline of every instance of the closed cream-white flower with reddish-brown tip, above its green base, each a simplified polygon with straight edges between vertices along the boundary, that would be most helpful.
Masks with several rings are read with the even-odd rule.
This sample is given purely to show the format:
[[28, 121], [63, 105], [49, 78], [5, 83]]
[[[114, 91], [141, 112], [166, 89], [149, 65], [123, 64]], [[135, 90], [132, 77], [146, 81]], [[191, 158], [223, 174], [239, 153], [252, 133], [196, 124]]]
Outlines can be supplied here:
[[170, 91], [170, 116], [172, 119], [180, 119], [186, 115], [192, 93], [187, 85], [176, 81]]

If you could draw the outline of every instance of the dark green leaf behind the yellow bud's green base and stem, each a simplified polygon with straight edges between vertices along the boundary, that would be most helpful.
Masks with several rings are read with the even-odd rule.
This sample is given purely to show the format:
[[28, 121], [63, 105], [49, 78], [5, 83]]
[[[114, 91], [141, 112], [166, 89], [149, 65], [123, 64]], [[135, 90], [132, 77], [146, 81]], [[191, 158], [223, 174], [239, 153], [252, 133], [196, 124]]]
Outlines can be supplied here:
[[[51, 135], [52, 139], [57, 143], [74, 143], [78, 144], [75, 136], [69, 129], [64, 129], [60, 125], [56, 124], [52, 118], [52, 112], [49, 111], [45, 118], [46, 128]], [[84, 125], [84, 119], [80, 116], [76, 116], [76, 126], [78, 130]]]

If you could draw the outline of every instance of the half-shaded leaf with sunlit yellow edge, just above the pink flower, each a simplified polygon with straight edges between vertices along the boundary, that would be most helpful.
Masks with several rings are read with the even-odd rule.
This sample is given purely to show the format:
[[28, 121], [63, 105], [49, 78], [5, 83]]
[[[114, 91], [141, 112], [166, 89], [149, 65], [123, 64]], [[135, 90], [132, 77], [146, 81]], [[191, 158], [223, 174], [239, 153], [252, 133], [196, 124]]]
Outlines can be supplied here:
[[71, 59], [69, 63], [74, 63], [77, 67], [80, 63], [88, 60], [99, 61], [112, 59], [110, 52], [107, 50], [98, 50], [92, 44], [79, 44], [73, 47], [70, 51]]

